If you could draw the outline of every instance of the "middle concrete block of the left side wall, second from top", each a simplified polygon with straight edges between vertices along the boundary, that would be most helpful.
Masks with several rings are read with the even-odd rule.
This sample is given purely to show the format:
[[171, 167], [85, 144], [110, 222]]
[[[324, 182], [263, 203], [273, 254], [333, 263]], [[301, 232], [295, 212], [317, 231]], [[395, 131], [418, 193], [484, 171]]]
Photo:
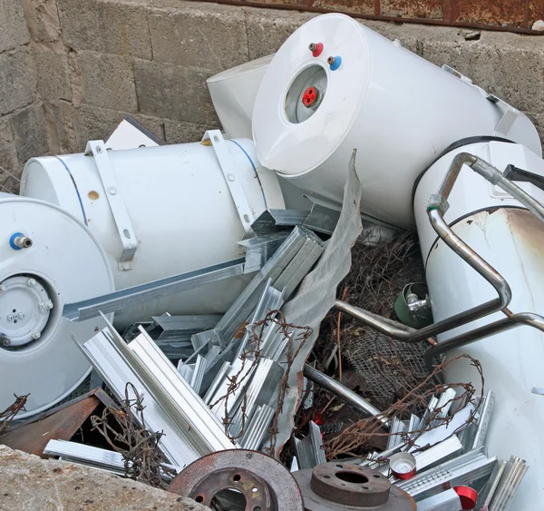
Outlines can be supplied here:
[[0, 115], [34, 102], [36, 73], [25, 47], [0, 54], [0, 91]]

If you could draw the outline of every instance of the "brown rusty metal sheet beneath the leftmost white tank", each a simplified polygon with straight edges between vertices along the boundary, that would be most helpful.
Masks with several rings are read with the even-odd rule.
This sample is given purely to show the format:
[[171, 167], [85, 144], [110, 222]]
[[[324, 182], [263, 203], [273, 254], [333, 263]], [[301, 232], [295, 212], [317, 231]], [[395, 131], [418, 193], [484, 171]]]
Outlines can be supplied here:
[[102, 388], [96, 388], [0, 435], [0, 444], [46, 458], [49, 440], [70, 440], [101, 404], [117, 408]]

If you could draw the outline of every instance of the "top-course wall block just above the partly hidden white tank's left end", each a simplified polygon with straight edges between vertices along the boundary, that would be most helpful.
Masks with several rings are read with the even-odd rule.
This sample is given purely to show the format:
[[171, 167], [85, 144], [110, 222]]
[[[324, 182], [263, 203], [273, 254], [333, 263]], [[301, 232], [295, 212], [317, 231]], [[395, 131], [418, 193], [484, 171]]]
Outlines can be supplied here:
[[214, 71], [248, 61], [244, 12], [230, 5], [181, 2], [149, 15], [153, 60]]

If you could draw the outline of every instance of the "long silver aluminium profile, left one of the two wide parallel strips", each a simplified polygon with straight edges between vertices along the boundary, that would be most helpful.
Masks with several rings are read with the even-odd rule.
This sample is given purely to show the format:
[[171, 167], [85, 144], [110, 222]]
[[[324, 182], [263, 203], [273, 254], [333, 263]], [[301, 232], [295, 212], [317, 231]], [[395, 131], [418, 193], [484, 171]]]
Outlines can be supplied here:
[[[131, 350], [112, 325], [108, 324], [108, 327], [91, 339], [78, 345], [120, 402], [125, 399], [125, 388], [128, 383], [138, 389], [145, 403], [146, 427], [152, 431], [164, 432], [159, 447], [170, 463], [185, 467], [193, 458], [199, 456], [185, 438], [185, 431], [182, 431], [184, 425], [178, 424], [175, 418], [166, 413], [162, 403], [144, 384], [139, 365], [134, 362]], [[134, 418], [137, 421], [139, 419], [136, 414]], [[185, 426], [189, 427], [189, 424]]]

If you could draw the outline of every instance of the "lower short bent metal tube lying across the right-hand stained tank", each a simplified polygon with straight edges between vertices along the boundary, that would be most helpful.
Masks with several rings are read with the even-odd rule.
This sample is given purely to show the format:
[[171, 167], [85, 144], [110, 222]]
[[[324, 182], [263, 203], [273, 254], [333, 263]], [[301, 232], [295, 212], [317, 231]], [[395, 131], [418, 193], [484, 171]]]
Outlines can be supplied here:
[[471, 342], [523, 325], [544, 332], [544, 317], [539, 314], [534, 314], [533, 312], [520, 312], [519, 314], [510, 316], [510, 318], [499, 319], [488, 325], [483, 325], [478, 329], [462, 333], [452, 339], [443, 340], [425, 350], [424, 360], [427, 369], [432, 370], [432, 360], [447, 351], [461, 348], [461, 346], [471, 344]]

